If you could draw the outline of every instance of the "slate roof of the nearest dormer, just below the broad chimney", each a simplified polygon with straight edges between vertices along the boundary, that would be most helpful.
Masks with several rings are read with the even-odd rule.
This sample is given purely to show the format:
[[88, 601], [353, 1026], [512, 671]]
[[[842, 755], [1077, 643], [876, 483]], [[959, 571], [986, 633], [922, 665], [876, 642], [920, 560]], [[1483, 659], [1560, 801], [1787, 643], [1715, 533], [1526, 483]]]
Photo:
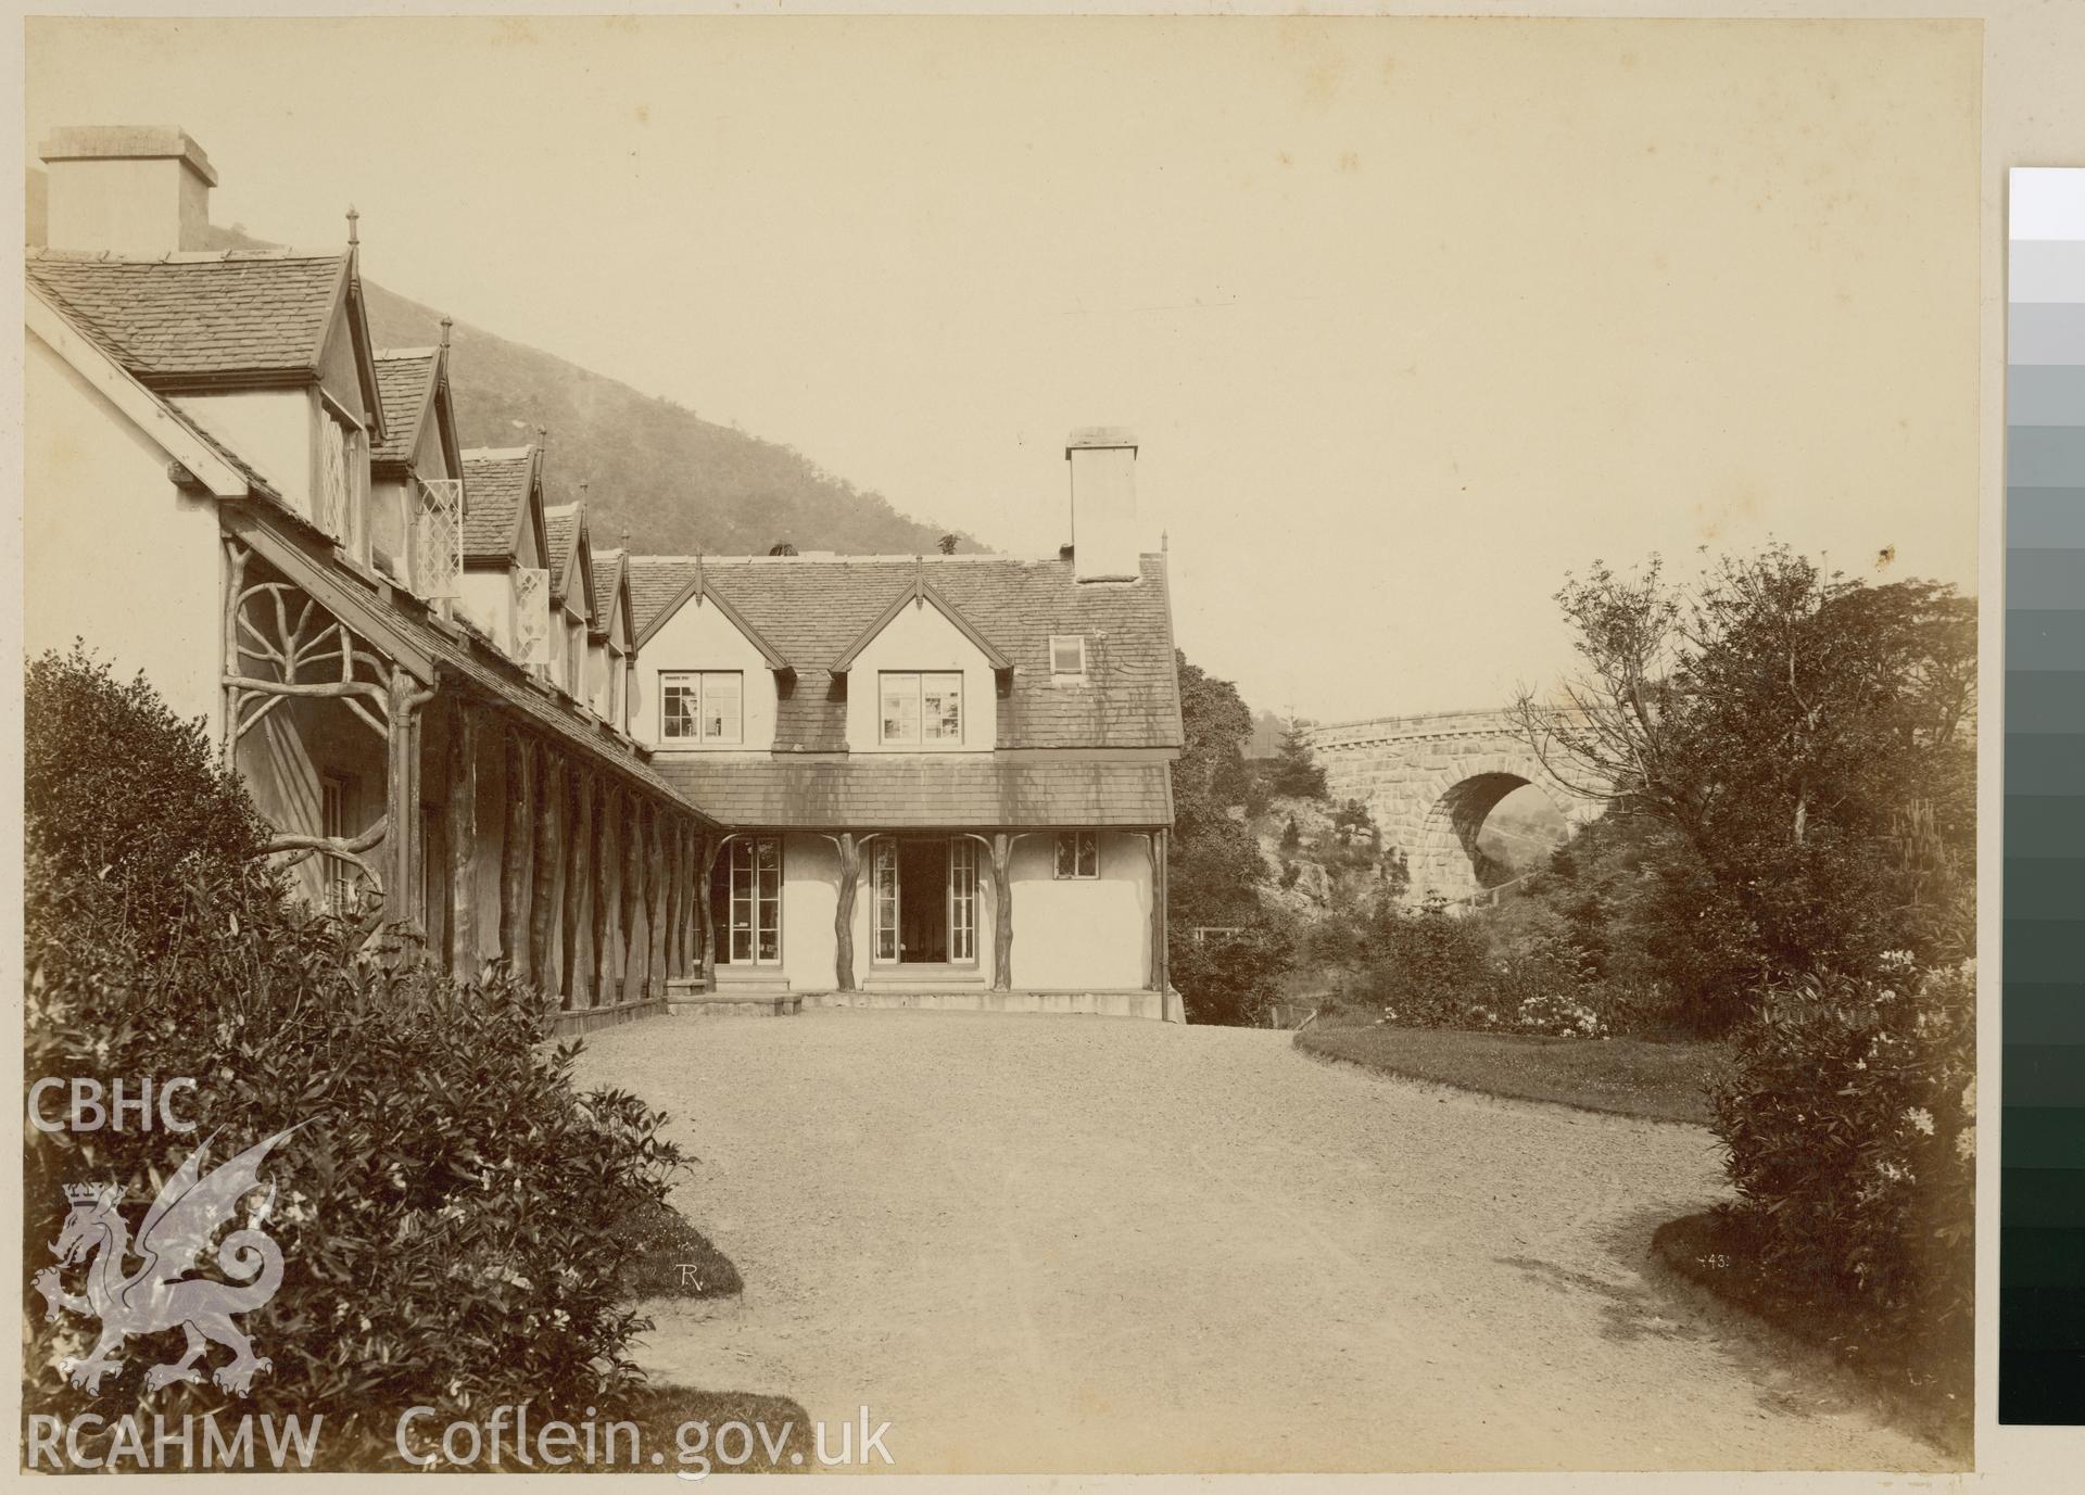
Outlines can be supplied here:
[[29, 250], [25, 267], [140, 382], [179, 384], [315, 371], [348, 256]]

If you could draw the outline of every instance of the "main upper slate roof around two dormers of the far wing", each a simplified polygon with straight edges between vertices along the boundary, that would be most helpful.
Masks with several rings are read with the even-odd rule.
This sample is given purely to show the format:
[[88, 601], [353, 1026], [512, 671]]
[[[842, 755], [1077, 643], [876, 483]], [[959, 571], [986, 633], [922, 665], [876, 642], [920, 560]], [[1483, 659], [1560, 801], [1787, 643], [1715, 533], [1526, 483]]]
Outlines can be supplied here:
[[[638, 636], [694, 580], [692, 557], [632, 557]], [[919, 569], [1001, 655], [1001, 749], [1176, 749], [1182, 744], [1166, 559], [1143, 580], [1080, 584], [1072, 561], [1009, 557], [705, 557], [703, 584], [736, 607], [796, 669], [776, 707], [776, 753], [847, 749], [844, 686], [828, 671]], [[1051, 634], [1086, 638], [1086, 684], [1053, 684]], [[874, 688], [874, 682], [872, 686]]]

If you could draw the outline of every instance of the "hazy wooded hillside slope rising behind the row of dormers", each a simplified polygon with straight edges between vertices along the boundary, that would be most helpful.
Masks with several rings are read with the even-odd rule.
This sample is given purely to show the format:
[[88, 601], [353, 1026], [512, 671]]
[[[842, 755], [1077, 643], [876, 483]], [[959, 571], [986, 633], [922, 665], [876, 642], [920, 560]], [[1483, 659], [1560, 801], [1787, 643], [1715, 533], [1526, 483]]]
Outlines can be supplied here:
[[[29, 242], [42, 240], [42, 173], [29, 173]], [[211, 227], [213, 248], [275, 248], [236, 227]], [[379, 348], [440, 340], [442, 315], [363, 284]], [[459, 321], [450, 334], [457, 434], [465, 446], [517, 446], [548, 430], [550, 503], [588, 484], [594, 544], [659, 555], [765, 555], [778, 540], [801, 550], [919, 555], [947, 525], [899, 513], [782, 442], [705, 421], [667, 398], [582, 369], [557, 354]], [[978, 550], [961, 536], [963, 550]]]

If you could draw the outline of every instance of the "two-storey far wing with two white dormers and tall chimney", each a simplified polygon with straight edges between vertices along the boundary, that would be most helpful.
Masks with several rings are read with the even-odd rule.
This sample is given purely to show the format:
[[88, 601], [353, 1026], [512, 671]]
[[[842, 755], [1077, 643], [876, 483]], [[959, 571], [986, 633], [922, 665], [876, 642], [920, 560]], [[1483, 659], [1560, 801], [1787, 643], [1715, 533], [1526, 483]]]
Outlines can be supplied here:
[[1136, 444], [1065, 450], [1074, 544], [1005, 557], [632, 557], [632, 732], [728, 822], [686, 995], [1178, 1018], [1182, 746]]

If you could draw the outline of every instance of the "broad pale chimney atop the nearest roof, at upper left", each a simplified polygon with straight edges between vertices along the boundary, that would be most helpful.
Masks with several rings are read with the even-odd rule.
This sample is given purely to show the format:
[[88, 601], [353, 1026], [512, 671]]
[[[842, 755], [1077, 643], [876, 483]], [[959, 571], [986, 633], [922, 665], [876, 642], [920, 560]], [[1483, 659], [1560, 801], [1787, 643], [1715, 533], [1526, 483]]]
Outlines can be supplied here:
[[167, 254], [208, 248], [217, 173], [188, 131], [69, 125], [38, 146], [50, 167], [50, 248]]

